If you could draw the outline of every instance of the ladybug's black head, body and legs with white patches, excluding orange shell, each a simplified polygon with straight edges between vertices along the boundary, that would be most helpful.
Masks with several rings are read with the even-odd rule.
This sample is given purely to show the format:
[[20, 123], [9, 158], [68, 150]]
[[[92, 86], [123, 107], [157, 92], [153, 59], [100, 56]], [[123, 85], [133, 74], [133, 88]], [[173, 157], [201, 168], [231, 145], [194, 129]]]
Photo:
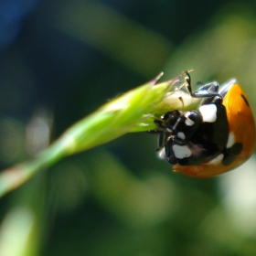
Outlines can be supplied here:
[[[187, 72], [187, 90], [192, 97], [203, 98], [197, 110], [166, 112], [155, 123], [159, 127], [159, 156], [171, 165], [200, 165], [209, 161], [229, 163], [229, 122], [219, 84], [211, 82], [192, 93]], [[237, 146], [237, 145], [236, 145]], [[234, 151], [240, 154], [241, 147]], [[228, 161], [227, 161], [227, 159]], [[232, 157], [233, 159], [233, 157]]]

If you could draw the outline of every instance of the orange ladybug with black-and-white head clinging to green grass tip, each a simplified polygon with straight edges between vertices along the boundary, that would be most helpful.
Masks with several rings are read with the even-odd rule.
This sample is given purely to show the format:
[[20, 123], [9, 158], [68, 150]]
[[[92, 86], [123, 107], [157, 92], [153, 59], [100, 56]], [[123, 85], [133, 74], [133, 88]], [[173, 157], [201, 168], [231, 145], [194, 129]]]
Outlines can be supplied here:
[[247, 95], [237, 80], [212, 81], [192, 92], [202, 98], [197, 110], [166, 112], [155, 120], [158, 155], [174, 171], [193, 177], [218, 176], [243, 164], [252, 154], [255, 123]]

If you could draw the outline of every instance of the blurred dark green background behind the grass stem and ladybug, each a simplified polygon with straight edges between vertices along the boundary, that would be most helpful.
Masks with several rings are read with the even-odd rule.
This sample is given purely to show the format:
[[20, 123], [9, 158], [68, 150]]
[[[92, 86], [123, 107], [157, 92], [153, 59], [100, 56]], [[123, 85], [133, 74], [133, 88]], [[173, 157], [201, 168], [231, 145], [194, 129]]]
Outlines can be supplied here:
[[[1, 169], [162, 70], [235, 77], [256, 110], [252, 0], [3, 0], [0, 50]], [[155, 147], [155, 135], [127, 134], [2, 198], [0, 255], [256, 255], [255, 157], [193, 179]]]

